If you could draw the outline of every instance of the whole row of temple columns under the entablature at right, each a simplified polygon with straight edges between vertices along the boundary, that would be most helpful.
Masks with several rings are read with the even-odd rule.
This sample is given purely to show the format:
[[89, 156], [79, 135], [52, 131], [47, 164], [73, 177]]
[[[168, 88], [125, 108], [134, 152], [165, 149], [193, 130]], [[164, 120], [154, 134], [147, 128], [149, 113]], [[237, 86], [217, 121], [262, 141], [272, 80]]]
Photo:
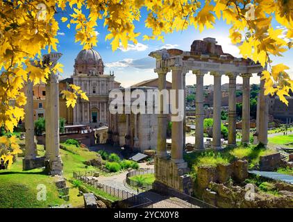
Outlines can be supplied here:
[[[172, 89], [185, 89], [185, 75], [182, 67], [171, 67], [172, 70]], [[166, 74], [167, 69], [156, 69], [158, 73], [158, 89], [166, 88]], [[196, 75], [196, 134], [195, 134], [195, 148], [203, 149], [203, 76], [208, 71], [194, 70]], [[221, 148], [221, 73], [217, 71], [210, 72], [214, 76], [214, 92], [213, 92], [213, 126], [212, 126], [212, 147]], [[229, 78], [228, 86], [228, 146], [236, 146], [236, 73], [226, 74]], [[250, 135], [250, 78], [252, 74], [241, 74], [243, 78], [242, 91], [242, 143], [249, 144]], [[260, 108], [259, 108], [259, 142], [267, 144], [267, 96], [264, 95], [264, 80], [260, 83]], [[162, 96], [162, 94], [160, 94]], [[174, 101], [176, 108], [178, 108], [178, 98], [180, 96], [176, 93]], [[172, 100], [172, 98], [171, 98]], [[162, 100], [160, 100], [162, 101]], [[183, 99], [184, 101], [184, 99]], [[158, 157], [166, 157], [166, 126], [167, 117], [163, 114], [163, 104], [160, 103], [160, 114], [158, 114]], [[184, 145], [184, 118], [185, 118], [185, 104], [184, 111], [179, 110], [179, 115], [183, 116], [182, 121], [172, 121], [172, 144], [171, 144], [171, 158], [174, 162], [183, 162], [183, 148]], [[172, 114], [172, 117], [178, 115]]]

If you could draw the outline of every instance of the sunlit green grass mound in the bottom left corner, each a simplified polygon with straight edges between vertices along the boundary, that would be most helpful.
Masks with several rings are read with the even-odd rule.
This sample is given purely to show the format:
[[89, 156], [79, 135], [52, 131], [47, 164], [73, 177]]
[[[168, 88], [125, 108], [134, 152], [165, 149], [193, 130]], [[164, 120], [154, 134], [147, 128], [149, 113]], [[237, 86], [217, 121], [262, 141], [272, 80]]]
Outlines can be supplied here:
[[[46, 186], [47, 200], [37, 200], [39, 184]], [[11, 169], [0, 171], [0, 208], [44, 208], [65, 203], [58, 195], [53, 179], [42, 169], [22, 171], [21, 158], [12, 164]]]

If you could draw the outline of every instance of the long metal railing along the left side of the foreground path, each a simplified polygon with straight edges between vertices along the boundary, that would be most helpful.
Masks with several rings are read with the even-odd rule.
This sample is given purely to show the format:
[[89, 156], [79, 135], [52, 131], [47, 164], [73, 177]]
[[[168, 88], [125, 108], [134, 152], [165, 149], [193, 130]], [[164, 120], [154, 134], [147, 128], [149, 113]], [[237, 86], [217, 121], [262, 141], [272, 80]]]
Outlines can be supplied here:
[[104, 185], [97, 180], [94, 180], [93, 178], [89, 178], [90, 176], [93, 176], [94, 173], [95, 171], [73, 172], [73, 177], [76, 180], [85, 182], [87, 185], [90, 185], [95, 189], [100, 189], [101, 191], [110, 194], [110, 196], [115, 196], [119, 199], [118, 201], [122, 201], [122, 203], [128, 205], [131, 208], [153, 208], [153, 202], [149, 200], [149, 198], [133, 194], [123, 189]]

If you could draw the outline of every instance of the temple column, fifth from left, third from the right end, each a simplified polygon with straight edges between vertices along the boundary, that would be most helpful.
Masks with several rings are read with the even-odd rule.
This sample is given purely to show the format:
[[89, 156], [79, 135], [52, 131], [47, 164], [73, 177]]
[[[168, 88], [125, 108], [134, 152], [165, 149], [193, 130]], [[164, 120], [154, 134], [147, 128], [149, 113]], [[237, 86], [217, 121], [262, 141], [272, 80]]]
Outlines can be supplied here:
[[229, 97], [228, 97], [228, 146], [236, 146], [236, 77], [237, 74], [228, 73]]

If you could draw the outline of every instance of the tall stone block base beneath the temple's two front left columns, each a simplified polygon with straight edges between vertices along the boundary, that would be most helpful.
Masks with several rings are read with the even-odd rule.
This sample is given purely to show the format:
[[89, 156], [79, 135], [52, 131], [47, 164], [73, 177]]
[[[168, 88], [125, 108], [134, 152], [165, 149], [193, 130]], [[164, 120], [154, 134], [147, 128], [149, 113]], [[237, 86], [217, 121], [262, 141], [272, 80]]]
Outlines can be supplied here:
[[177, 191], [190, 194], [192, 179], [187, 176], [189, 169], [187, 162], [175, 163], [172, 160], [155, 157], [155, 178], [153, 189], [161, 191], [160, 187], [176, 189]]

